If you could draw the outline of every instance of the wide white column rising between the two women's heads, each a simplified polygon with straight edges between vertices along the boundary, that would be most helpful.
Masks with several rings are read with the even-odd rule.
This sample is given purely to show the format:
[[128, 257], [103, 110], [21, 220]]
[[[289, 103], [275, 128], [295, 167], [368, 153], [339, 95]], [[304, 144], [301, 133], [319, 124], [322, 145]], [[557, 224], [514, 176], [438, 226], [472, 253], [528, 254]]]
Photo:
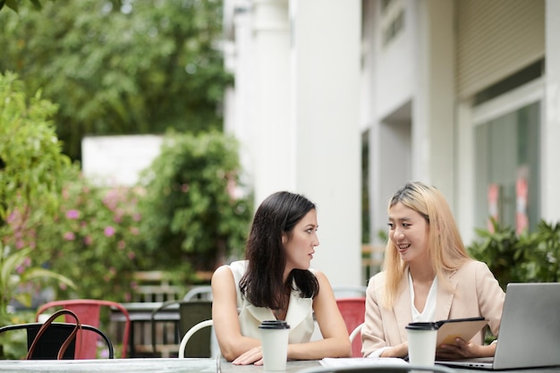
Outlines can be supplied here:
[[360, 0], [291, 0], [295, 190], [318, 204], [312, 267], [361, 284]]

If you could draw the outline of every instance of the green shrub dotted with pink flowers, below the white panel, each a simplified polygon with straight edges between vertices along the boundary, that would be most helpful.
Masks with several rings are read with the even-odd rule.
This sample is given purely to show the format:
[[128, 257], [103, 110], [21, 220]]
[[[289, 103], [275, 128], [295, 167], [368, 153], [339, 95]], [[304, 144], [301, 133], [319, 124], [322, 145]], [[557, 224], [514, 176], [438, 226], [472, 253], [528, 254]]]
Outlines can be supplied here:
[[67, 179], [60, 208], [36, 232], [48, 267], [77, 284], [59, 289], [60, 297], [130, 301], [141, 255], [139, 198], [138, 189], [99, 187], [80, 174]]

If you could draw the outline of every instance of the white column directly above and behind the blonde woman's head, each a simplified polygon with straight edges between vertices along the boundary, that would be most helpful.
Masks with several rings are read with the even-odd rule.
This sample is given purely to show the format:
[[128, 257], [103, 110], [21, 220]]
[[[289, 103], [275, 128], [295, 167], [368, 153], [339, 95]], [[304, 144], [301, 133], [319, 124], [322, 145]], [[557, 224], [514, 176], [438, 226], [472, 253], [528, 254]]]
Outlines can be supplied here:
[[429, 182], [454, 206], [454, 12], [448, 0], [418, 6], [418, 85], [412, 102], [414, 179]]

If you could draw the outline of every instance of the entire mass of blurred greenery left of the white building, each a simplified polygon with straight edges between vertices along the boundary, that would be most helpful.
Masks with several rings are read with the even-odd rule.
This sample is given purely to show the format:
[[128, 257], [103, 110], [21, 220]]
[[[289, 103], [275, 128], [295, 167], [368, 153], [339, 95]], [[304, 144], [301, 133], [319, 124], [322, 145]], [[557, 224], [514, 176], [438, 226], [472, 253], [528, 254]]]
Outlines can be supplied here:
[[[222, 131], [221, 2], [0, 7], [0, 325], [47, 287], [128, 301], [134, 271], [186, 288], [240, 255], [252, 199]], [[82, 176], [84, 136], [143, 133], [165, 140], [138, 185]]]

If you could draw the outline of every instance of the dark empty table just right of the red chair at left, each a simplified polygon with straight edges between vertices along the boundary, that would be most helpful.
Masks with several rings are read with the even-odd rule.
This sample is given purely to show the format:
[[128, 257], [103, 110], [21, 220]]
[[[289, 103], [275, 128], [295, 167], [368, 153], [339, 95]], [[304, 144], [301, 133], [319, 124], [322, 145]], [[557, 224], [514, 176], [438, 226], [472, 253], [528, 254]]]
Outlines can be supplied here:
[[[131, 302], [131, 303], [121, 303], [123, 307], [128, 310], [129, 316], [131, 318], [131, 335], [129, 336], [129, 356], [131, 358], [136, 357], [146, 357], [146, 355], [151, 356], [152, 349], [152, 339], [151, 339], [151, 314], [154, 309], [159, 308], [163, 303], [159, 301], [147, 301], [147, 302]], [[171, 304], [165, 309], [160, 309], [157, 311], [154, 320], [157, 322], [157, 333], [162, 332], [166, 337], [167, 331], [170, 335], [175, 335], [176, 330], [179, 326], [179, 305]], [[112, 322], [124, 323], [123, 313], [115, 312], [111, 313]], [[166, 326], [171, 324], [171, 329], [167, 330]], [[175, 351], [179, 350], [180, 340], [173, 340], [166, 343], [166, 347], [173, 348]], [[168, 345], [167, 345], [168, 344]], [[168, 357], [168, 356], [165, 356]]]

